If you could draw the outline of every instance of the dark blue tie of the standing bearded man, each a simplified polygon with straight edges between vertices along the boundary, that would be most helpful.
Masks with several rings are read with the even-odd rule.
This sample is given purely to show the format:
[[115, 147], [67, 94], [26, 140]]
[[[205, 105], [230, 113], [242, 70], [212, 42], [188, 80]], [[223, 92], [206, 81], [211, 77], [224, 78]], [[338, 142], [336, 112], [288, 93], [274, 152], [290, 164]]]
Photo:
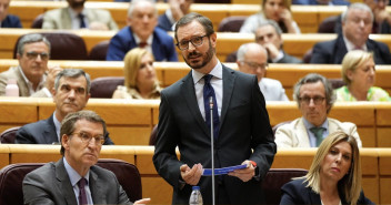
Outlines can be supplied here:
[[203, 76], [204, 85], [203, 85], [203, 105], [205, 109], [205, 123], [208, 127], [210, 127], [210, 103], [209, 98], [212, 96], [213, 100], [213, 137], [214, 140], [219, 137], [219, 112], [218, 112], [218, 103], [215, 101], [215, 94], [213, 86], [210, 84], [210, 80], [213, 75], [207, 74]]

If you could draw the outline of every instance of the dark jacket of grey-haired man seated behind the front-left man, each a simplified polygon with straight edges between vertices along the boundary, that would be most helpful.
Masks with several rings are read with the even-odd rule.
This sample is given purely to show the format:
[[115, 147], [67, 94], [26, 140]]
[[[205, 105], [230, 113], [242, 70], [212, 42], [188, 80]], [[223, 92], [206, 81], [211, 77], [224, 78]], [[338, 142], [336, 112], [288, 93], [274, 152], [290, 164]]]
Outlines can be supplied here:
[[[14, 140], [16, 144], [58, 144], [59, 140], [56, 133], [53, 114], [47, 120], [41, 120], [36, 123], [26, 124], [17, 132]], [[109, 133], [106, 135], [104, 145], [114, 144]]]

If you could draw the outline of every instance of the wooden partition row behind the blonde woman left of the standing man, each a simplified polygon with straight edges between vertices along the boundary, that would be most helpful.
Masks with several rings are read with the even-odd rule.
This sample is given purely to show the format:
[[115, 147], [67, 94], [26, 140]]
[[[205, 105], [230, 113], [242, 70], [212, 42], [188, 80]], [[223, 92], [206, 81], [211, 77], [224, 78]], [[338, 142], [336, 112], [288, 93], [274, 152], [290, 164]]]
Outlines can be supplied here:
[[[224, 63], [238, 70], [235, 63]], [[0, 59], [0, 72], [18, 65], [17, 60]], [[123, 62], [119, 61], [49, 61], [49, 65], [83, 69], [91, 79], [101, 76], [123, 76]], [[183, 62], [154, 62], [158, 79], [163, 88], [177, 82], [189, 73], [189, 66]], [[293, 85], [305, 74], [317, 72], [328, 79], [341, 79], [340, 64], [269, 64], [265, 76], [277, 79], [292, 100]], [[377, 65], [375, 85], [391, 93], [391, 65]]]

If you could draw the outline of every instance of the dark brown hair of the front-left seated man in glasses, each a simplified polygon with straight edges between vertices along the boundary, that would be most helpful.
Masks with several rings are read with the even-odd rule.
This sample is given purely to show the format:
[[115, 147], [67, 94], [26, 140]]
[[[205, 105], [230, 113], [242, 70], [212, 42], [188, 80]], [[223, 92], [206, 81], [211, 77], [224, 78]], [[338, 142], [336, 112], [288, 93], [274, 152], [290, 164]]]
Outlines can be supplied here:
[[62, 135], [67, 134], [69, 137], [71, 137], [71, 134], [74, 131], [74, 124], [80, 120], [87, 120], [87, 121], [93, 122], [93, 123], [101, 123], [103, 126], [103, 135], [104, 135], [104, 137], [107, 136], [108, 131], [106, 129], [106, 122], [96, 112], [84, 110], [84, 111], [79, 111], [79, 112], [74, 112], [74, 113], [69, 113], [62, 120], [61, 129], [60, 129], [60, 143], [61, 143], [60, 153], [62, 155], [64, 154], [64, 147], [62, 146]]

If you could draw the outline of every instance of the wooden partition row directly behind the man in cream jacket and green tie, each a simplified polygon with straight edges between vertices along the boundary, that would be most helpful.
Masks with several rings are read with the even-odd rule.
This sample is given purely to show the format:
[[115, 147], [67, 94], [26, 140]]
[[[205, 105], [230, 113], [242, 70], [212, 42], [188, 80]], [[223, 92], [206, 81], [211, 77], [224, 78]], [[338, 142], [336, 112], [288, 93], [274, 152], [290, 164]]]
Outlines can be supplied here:
[[[96, 111], [108, 124], [117, 145], [148, 145], [159, 121], [159, 100], [90, 99], [88, 110]], [[295, 102], [267, 104], [272, 126], [301, 116]], [[0, 132], [48, 119], [54, 111], [51, 99], [0, 98]], [[364, 147], [391, 147], [391, 103], [335, 103], [330, 117], [353, 122]]]

